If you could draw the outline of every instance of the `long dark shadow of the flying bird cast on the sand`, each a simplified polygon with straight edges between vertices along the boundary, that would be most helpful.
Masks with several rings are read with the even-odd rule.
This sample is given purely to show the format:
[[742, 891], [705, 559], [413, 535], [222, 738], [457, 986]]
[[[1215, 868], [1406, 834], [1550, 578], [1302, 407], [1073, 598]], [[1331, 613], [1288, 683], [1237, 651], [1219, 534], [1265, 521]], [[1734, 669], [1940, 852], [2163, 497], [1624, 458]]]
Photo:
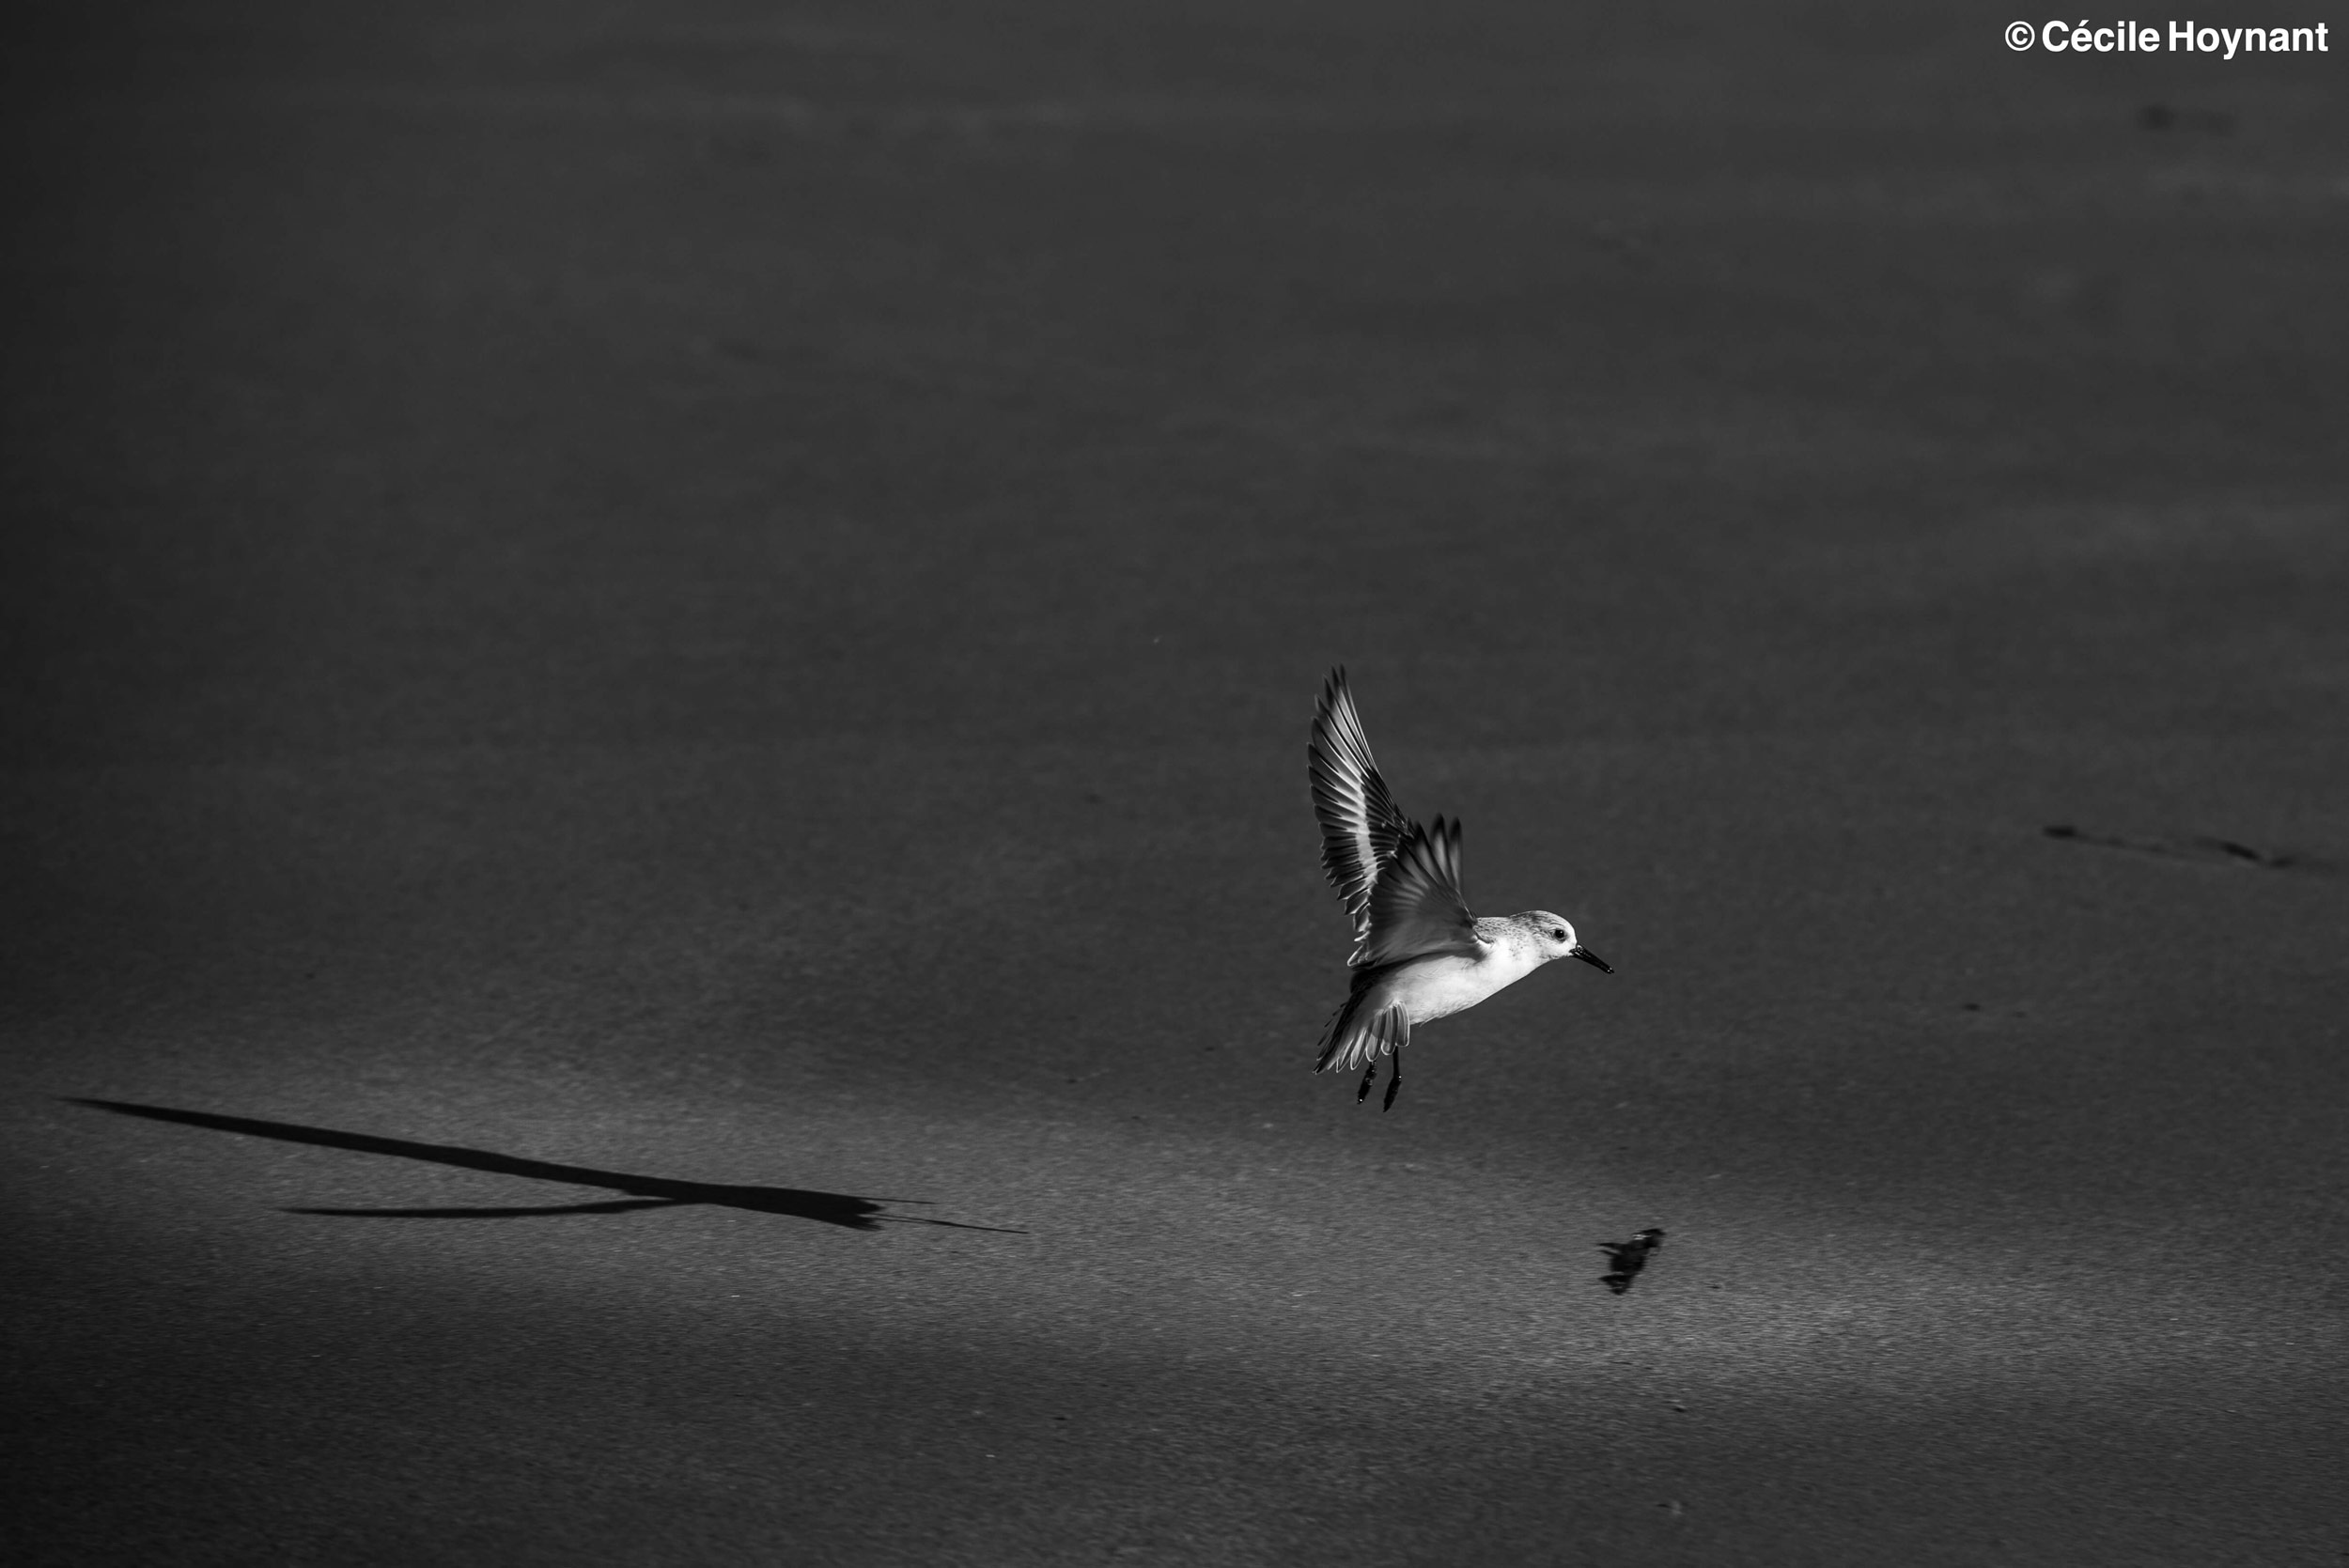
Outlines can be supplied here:
[[491, 1207], [491, 1209], [287, 1209], [287, 1214], [331, 1214], [343, 1218], [383, 1221], [514, 1221], [547, 1214], [634, 1214], [639, 1209], [679, 1209], [686, 1204], [712, 1204], [719, 1209], [747, 1209], [752, 1214], [787, 1214], [799, 1221], [820, 1221], [848, 1230], [879, 1230], [881, 1225], [944, 1225], [949, 1230], [991, 1230], [996, 1235], [1027, 1235], [1003, 1225], [965, 1225], [961, 1221], [933, 1221], [918, 1214], [890, 1214], [888, 1204], [918, 1204], [918, 1197], [855, 1197], [850, 1192], [815, 1192], [810, 1188], [740, 1188], [714, 1181], [672, 1181], [667, 1176], [632, 1176], [627, 1171], [599, 1171], [585, 1164], [554, 1164], [550, 1160], [524, 1160], [521, 1155], [498, 1155], [484, 1148], [456, 1143], [411, 1143], [409, 1138], [378, 1138], [364, 1131], [336, 1131], [331, 1127], [303, 1127], [298, 1122], [263, 1122], [242, 1115], [211, 1115], [209, 1110], [174, 1110], [169, 1106], [129, 1106], [124, 1101], [73, 1099], [73, 1106], [92, 1106], [117, 1115], [139, 1115], [153, 1122], [179, 1122], [183, 1127], [211, 1127], [214, 1131], [242, 1131], [249, 1138], [277, 1138], [280, 1143], [315, 1143], [317, 1148], [348, 1148], [362, 1155], [392, 1155], [395, 1160], [423, 1160], [428, 1164], [453, 1164], [465, 1171], [491, 1171], [498, 1176], [529, 1176], [531, 1181], [561, 1181], [576, 1188], [604, 1188], [627, 1197], [606, 1197], [587, 1204], [545, 1207]]

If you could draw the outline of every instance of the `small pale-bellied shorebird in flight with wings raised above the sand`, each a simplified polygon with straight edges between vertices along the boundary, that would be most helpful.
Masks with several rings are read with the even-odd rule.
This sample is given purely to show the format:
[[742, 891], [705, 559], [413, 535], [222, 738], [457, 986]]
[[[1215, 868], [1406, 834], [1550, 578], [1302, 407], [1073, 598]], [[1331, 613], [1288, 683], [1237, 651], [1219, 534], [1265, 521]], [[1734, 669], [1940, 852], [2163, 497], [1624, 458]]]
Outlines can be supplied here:
[[1402, 1047], [1414, 1023], [1475, 1007], [1553, 958], [1614, 967], [1574, 939], [1574, 925], [1546, 908], [1478, 920], [1461, 897], [1461, 824], [1423, 829], [1386, 793], [1369, 761], [1362, 716], [1346, 669], [1332, 669], [1313, 711], [1313, 815], [1322, 829], [1322, 871], [1353, 915], [1353, 991], [1330, 1019], [1315, 1073], [1367, 1066], [1353, 1101], [1369, 1099], [1379, 1056], [1395, 1054], [1381, 1110], [1402, 1087]]

